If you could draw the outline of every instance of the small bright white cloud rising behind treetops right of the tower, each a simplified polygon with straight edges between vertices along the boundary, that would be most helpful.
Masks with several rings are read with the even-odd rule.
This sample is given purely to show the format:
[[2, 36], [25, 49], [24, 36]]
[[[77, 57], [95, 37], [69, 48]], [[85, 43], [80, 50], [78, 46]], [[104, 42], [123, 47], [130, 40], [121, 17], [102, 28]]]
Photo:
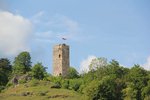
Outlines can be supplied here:
[[91, 64], [91, 61], [95, 59], [96, 56], [88, 56], [87, 59], [83, 60], [80, 64], [79, 73], [88, 72], [89, 71], [89, 65]]

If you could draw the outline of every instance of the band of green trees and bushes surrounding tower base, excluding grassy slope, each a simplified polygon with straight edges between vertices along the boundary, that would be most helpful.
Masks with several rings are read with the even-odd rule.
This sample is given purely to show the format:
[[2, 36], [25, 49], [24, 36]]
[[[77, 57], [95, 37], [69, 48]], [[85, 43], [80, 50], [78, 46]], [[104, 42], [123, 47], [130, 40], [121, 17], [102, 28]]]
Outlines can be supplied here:
[[[31, 76], [33, 80], [50, 81], [53, 88], [74, 90], [90, 100], [150, 100], [150, 71], [140, 65], [126, 68], [116, 60], [107, 62], [102, 57], [93, 59], [89, 68], [89, 72], [79, 74], [70, 67], [66, 77], [54, 77], [46, 72], [42, 63], [32, 67], [29, 52], [21, 52], [15, 57], [13, 67], [7, 58], [0, 59], [0, 91], [9, 86], [11, 76], [17, 74]], [[19, 82], [27, 82], [26, 78]]]

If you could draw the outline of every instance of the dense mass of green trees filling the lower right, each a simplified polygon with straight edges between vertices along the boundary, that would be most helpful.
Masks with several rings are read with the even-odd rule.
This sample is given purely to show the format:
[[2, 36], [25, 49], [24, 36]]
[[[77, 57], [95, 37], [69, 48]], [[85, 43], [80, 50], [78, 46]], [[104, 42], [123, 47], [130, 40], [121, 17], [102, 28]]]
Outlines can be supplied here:
[[123, 68], [119, 62], [112, 60], [105, 66], [98, 67], [99, 63], [94, 63], [96, 69], [81, 76], [84, 83], [79, 91], [89, 96], [93, 100], [141, 100], [149, 98], [149, 86], [147, 86], [149, 71], [144, 70], [139, 65], [133, 68]]

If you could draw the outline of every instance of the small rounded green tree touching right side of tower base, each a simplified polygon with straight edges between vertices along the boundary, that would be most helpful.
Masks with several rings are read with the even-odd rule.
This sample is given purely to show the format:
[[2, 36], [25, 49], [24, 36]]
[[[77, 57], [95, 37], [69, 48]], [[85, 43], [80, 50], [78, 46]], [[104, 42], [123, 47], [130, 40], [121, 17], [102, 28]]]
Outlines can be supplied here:
[[68, 71], [68, 74], [67, 74], [67, 78], [70, 78], [70, 79], [73, 79], [73, 78], [78, 78], [79, 73], [77, 72], [77, 70], [73, 67], [69, 67], [69, 71]]

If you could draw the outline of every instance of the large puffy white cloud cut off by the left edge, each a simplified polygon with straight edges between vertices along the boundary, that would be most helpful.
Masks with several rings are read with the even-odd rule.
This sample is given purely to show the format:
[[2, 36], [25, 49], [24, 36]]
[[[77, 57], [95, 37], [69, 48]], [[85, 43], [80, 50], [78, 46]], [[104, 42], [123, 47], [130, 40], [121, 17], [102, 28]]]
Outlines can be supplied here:
[[0, 11], [0, 55], [12, 56], [29, 50], [27, 42], [32, 30], [31, 22], [7, 11]]

